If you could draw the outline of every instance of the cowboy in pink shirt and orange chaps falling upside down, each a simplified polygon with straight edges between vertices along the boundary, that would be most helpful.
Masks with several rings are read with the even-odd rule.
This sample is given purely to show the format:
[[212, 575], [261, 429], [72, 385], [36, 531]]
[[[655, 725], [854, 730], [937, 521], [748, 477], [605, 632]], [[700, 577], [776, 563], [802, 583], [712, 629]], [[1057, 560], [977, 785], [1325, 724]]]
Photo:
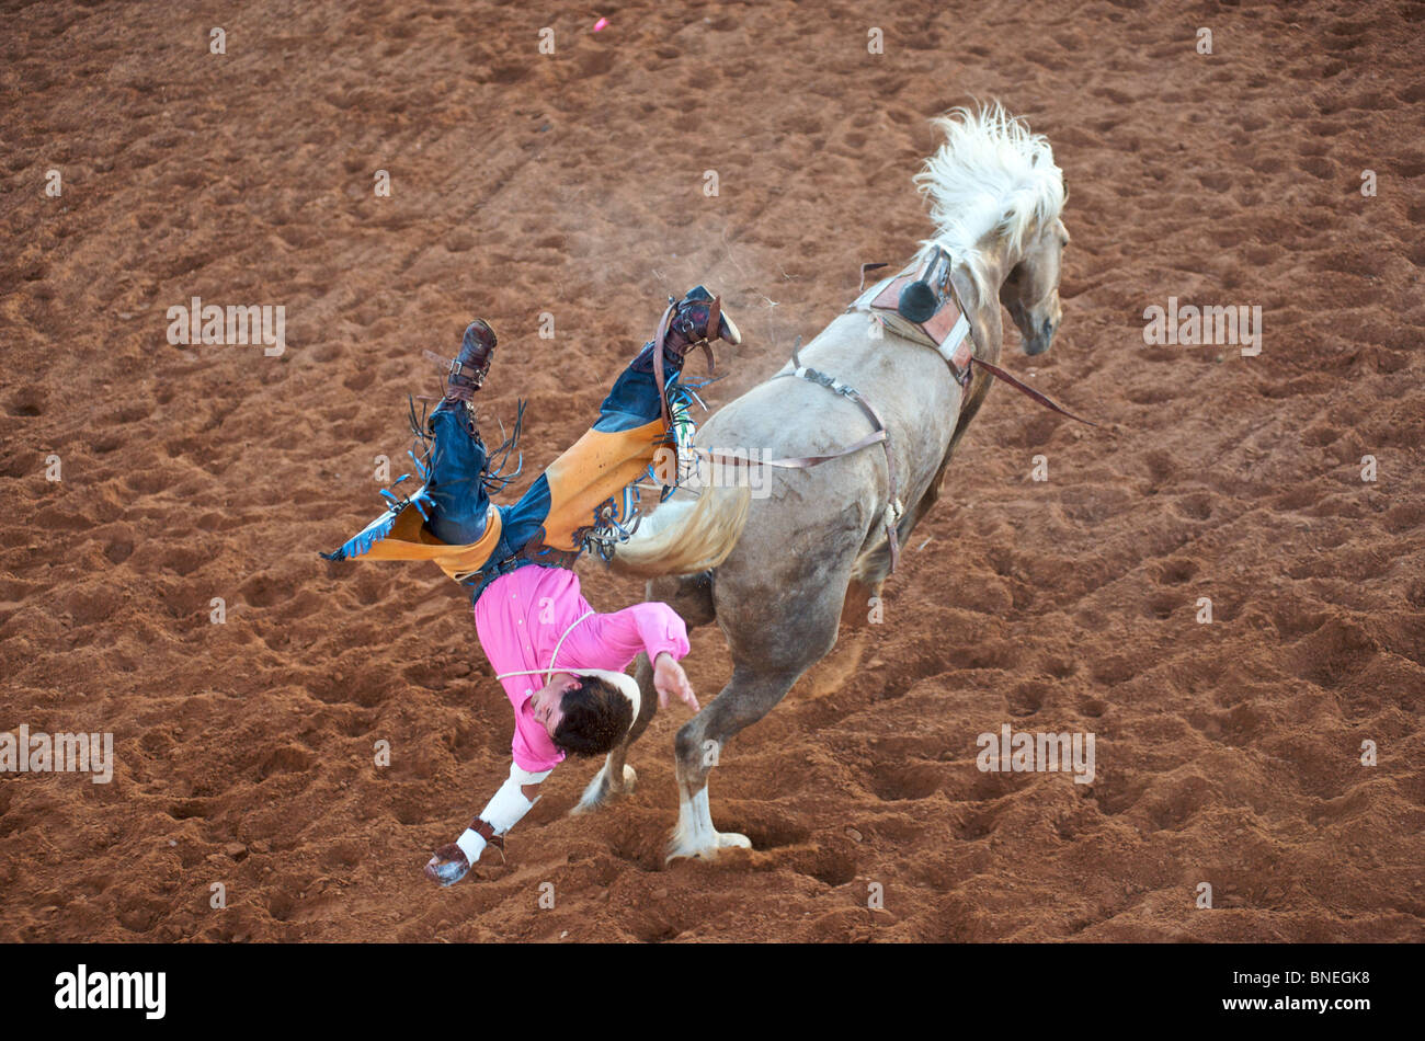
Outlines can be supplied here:
[[741, 342], [721, 302], [703, 286], [678, 302], [670, 298], [658, 332], [614, 380], [593, 427], [519, 501], [494, 506], [490, 493], [513, 480], [502, 470], [520, 420], [499, 449], [486, 449], [473, 397], [496, 336], [486, 322], [472, 322], [445, 396], [425, 423], [412, 424], [426, 447], [425, 460], [412, 454], [426, 483], [405, 500], [385, 491], [396, 504], [336, 553], [322, 554], [432, 560], [467, 587], [480, 645], [514, 709], [509, 778], [470, 826], [435, 852], [425, 867], [432, 882], [459, 882], [486, 846], [503, 856], [504, 833], [529, 813], [566, 755], [604, 755], [623, 741], [640, 716], [638, 684], [624, 672], [640, 652], [653, 665], [660, 706], [674, 696], [698, 709], [678, 664], [688, 637], [677, 612], [646, 602], [598, 614], [570, 568], [583, 551], [627, 537], [637, 516], [630, 491], [656, 453], [691, 427], [690, 389], [678, 379], [684, 357], [703, 346], [711, 363], [710, 340]]

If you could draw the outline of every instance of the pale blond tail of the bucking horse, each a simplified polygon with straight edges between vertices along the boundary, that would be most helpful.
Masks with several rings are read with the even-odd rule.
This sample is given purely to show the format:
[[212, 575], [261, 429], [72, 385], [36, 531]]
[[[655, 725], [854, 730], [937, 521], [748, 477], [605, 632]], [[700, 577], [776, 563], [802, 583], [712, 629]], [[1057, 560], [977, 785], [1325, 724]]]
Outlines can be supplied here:
[[633, 538], [616, 547], [608, 565], [640, 578], [714, 568], [742, 537], [751, 501], [752, 490], [747, 486], [710, 486], [693, 501], [664, 503], [638, 525]]

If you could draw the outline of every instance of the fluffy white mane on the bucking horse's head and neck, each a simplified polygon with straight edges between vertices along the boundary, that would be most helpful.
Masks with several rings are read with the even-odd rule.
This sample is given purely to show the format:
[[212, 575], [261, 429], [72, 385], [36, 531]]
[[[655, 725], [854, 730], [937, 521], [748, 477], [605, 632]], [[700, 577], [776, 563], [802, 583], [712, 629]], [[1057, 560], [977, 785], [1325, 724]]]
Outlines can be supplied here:
[[913, 181], [931, 199], [935, 238], [921, 242], [965, 262], [983, 288], [978, 245], [996, 234], [1019, 252], [1030, 229], [1056, 219], [1064, 206], [1063, 171], [1043, 134], [1005, 111], [998, 101], [978, 113], [952, 108], [931, 125], [945, 131], [945, 144], [925, 161]]

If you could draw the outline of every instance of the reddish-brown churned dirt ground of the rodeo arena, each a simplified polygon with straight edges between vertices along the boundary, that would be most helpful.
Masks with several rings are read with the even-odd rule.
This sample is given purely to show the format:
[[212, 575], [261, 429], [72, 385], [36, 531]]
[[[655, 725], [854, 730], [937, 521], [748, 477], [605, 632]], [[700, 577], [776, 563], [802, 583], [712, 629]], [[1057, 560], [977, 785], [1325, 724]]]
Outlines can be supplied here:
[[[1425, 6], [4, 7], [0, 729], [117, 768], [0, 775], [0, 940], [1425, 938]], [[674, 709], [630, 800], [564, 816], [566, 763], [507, 866], [430, 886], [507, 702], [433, 567], [316, 555], [379, 513], [420, 352], [494, 325], [533, 476], [701, 281], [725, 403], [931, 234], [970, 97], [1070, 189], [1063, 329], [1006, 320], [1006, 363], [1117, 430], [993, 392], [884, 622], [714, 772], [755, 852], [664, 867]], [[171, 346], [192, 296], [285, 306], [285, 353]], [[1170, 296], [1260, 306], [1261, 353], [1146, 346]], [[711, 698], [720, 634], [687, 665]], [[982, 773], [1003, 723], [1093, 732], [1094, 782]]]

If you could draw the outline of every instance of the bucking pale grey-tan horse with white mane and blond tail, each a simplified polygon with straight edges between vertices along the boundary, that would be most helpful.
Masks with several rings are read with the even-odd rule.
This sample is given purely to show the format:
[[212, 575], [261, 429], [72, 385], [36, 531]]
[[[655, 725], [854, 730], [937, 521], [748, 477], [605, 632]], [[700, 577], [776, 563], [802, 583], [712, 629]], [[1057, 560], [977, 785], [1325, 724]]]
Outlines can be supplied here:
[[[1059, 263], [1069, 241], [1053, 151], [998, 104], [978, 113], [958, 108], [935, 124], [946, 141], [915, 181], [931, 199], [938, 229], [918, 258], [936, 246], [952, 258], [949, 281], [970, 325], [965, 355], [999, 360], [1000, 303], [1023, 335], [1025, 353], [1039, 355], [1059, 326]], [[750, 500], [745, 487], [708, 487], [697, 497], [680, 491], [614, 557], [616, 570], [657, 575], [648, 600], [673, 605], [690, 628], [715, 621], [732, 652], [727, 686], [678, 731], [681, 805], [670, 860], [751, 846], [747, 836], [712, 826], [712, 752], [767, 715], [835, 647], [848, 595], [864, 604], [879, 594], [892, 567], [888, 517], [903, 545], [939, 497], [955, 446], [990, 380], [970, 365], [972, 377], [962, 385], [933, 346], [875, 328], [865, 310], [836, 318], [801, 349], [799, 360], [874, 404], [893, 451], [872, 444], [821, 466], [771, 470], [765, 498]], [[791, 370], [788, 363], [781, 373]], [[811, 457], [834, 454], [871, 427], [868, 413], [845, 394], [807, 379], [771, 379], [714, 414], [695, 443], [712, 451], [754, 446], [764, 459]], [[891, 497], [888, 464], [899, 503]], [[576, 812], [603, 805], [634, 780], [627, 748], [658, 702], [646, 658], [637, 679], [641, 713]]]

